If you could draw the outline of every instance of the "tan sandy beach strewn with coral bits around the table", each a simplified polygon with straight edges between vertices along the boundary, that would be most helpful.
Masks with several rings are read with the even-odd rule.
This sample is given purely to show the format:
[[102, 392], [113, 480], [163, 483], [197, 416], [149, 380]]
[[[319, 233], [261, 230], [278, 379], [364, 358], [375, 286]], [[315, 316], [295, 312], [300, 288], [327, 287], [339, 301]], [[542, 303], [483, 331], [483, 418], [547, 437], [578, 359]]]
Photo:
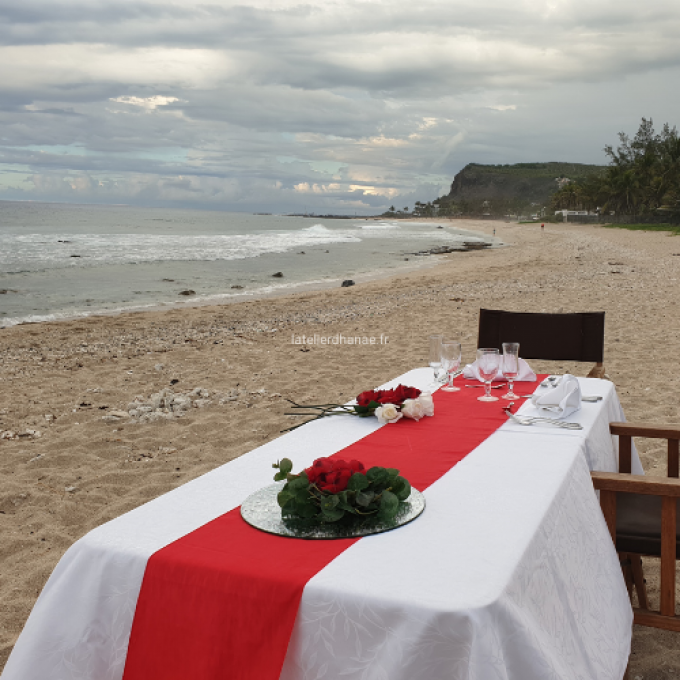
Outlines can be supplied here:
[[[605, 367], [628, 419], [680, 422], [680, 239], [591, 225], [455, 226], [495, 228], [508, 247], [350, 288], [0, 330], [0, 669], [83, 534], [280, 436], [294, 422], [284, 397], [349, 400], [425, 365], [432, 332], [460, 339], [472, 361], [480, 307], [605, 310]], [[299, 341], [315, 334], [376, 340]], [[181, 417], [151, 413], [159, 393], [184, 404]], [[665, 474], [664, 442], [640, 452], [648, 474]], [[656, 606], [653, 563], [646, 577]], [[631, 680], [680, 672], [680, 636], [636, 627], [630, 668]]]

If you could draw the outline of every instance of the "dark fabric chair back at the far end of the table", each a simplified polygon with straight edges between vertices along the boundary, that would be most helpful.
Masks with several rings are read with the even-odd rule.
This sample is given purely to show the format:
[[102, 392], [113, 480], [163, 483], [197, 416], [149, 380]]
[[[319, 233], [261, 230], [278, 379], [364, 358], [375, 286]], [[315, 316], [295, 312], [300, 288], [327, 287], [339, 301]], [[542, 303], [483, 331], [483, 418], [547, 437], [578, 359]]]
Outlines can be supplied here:
[[524, 359], [594, 361], [589, 378], [604, 377], [604, 312], [539, 314], [479, 310], [477, 347], [519, 342]]

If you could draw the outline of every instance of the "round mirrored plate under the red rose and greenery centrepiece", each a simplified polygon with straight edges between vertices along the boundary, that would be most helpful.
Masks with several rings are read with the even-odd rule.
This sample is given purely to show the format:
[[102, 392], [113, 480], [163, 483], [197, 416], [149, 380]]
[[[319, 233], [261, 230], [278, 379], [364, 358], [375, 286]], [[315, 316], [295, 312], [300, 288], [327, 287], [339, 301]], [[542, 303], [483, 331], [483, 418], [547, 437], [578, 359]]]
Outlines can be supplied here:
[[401, 527], [412, 522], [425, 510], [425, 496], [420, 491], [411, 489], [411, 495], [399, 504], [396, 517], [389, 522], [369, 517], [358, 524], [333, 523], [310, 526], [299, 520], [284, 520], [281, 517], [281, 507], [276, 501], [276, 496], [284, 484], [285, 482], [276, 482], [248, 496], [241, 505], [241, 517], [256, 529], [277, 536], [309, 539], [358, 538]]

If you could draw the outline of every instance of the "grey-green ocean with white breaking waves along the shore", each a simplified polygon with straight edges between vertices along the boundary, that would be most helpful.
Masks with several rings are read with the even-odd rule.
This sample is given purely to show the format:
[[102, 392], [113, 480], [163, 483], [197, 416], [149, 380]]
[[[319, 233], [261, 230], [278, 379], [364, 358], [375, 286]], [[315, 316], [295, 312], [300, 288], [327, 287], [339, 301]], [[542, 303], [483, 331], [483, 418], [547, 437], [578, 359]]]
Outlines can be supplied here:
[[446, 220], [0, 201], [0, 328], [338, 287], [475, 240], [488, 237]]

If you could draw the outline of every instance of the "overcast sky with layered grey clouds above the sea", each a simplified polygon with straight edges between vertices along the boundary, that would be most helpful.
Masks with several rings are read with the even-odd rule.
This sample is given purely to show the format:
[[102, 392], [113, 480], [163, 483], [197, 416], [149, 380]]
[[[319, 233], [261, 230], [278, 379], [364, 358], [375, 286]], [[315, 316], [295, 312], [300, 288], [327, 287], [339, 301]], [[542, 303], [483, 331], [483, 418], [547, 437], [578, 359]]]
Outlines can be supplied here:
[[677, 0], [0, 0], [0, 200], [376, 214], [680, 125]]

